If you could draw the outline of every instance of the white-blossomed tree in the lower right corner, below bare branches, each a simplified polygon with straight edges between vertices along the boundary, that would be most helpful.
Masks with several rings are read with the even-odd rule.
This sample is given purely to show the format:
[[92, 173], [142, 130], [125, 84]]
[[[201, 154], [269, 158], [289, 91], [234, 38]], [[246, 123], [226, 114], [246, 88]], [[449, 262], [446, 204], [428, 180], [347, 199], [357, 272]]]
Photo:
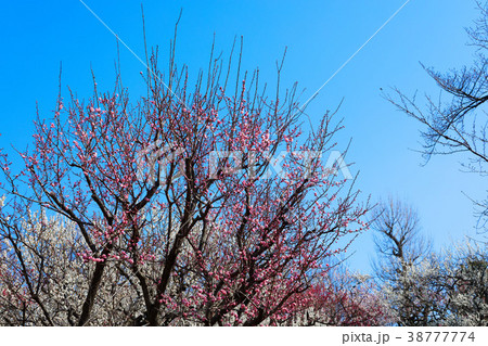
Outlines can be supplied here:
[[400, 325], [488, 325], [486, 245], [466, 242], [432, 255], [409, 266], [398, 284], [385, 282], [383, 292]]

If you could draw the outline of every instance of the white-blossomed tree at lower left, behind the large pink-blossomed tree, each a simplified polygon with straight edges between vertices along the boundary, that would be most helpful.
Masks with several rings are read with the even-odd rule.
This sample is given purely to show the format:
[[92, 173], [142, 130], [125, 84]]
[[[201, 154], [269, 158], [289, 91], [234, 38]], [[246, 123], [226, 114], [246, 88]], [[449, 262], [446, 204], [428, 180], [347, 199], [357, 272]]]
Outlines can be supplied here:
[[[9, 207], [9, 206], [7, 206]], [[17, 210], [0, 202], [0, 324], [76, 325], [94, 262], [84, 260], [77, 226], [63, 217]], [[13, 216], [16, 215], [16, 216]], [[140, 293], [116, 261], [107, 266], [93, 302], [93, 325], [130, 324]]]

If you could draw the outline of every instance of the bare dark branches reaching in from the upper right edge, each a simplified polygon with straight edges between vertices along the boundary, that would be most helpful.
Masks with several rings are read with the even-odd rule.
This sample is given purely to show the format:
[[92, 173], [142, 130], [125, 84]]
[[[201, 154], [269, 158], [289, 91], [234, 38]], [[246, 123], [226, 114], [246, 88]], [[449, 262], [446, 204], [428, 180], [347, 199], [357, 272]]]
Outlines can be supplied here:
[[[422, 65], [442, 91], [439, 99], [426, 95], [424, 106], [419, 105], [415, 95], [409, 98], [397, 88], [395, 95], [386, 95], [386, 99], [423, 125], [422, 153], [426, 162], [432, 155], [465, 153], [468, 156], [464, 169], [485, 176], [488, 174], [488, 2], [477, 4], [480, 17], [473, 28], [467, 29], [470, 43], [476, 48], [473, 65], [446, 74]], [[479, 213], [478, 228], [484, 230], [488, 220], [488, 200], [475, 204]]]

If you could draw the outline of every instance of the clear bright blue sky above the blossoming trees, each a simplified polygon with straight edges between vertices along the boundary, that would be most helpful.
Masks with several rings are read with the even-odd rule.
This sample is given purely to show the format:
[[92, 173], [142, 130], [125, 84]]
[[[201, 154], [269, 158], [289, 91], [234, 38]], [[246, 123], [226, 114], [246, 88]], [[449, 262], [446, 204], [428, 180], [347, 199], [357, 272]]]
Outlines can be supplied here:
[[[89, 5], [140, 56], [143, 56], [141, 1], [94, 1]], [[229, 52], [244, 36], [244, 67], [259, 66], [275, 80], [274, 63], [288, 48], [283, 86], [297, 80], [307, 100], [404, 2], [404, 0], [322, 1], [147, 1], [143, 0], [149, 44], [167, 56], [180, 9], [177, 57], [206, 66], [214, 34], [217, 50]], [[477, 16], [474, 0], [411, 2], [324, 88], [308, 107], [318, 117], [345, 98], [339, 117], [346, 129], [339, 144], [352, 144], [348, 162], [360, 170], [358, 188], [373, 200], [399, 196], [414, 205], [436, 248], [475, 235], [473, 205], [463, 194], [483, 198], [481, 178], [460, 172], [461, 156], [435, 157], [422, 167], [419, 125], [381, 98], [380, 88], [406, 93], [438, 90], [419, 62], [440, 71], [470, 64], [464, 27]], [[114, 80], [116, 43], [112, 34], [78, 0], [4, 1], [0, 12], [0, 146], [29, 142], [36, 101], [49, 117], [63, 85], [80, 98], [91, 91], [90, 68], [102, 87]], [[126, 87], [140, 91], [143, 66], [120, 48]], [[163, 62], [163, 61], [162, 61]], [[370, 234], [361, 235], [350, 266], [369, 270]]]

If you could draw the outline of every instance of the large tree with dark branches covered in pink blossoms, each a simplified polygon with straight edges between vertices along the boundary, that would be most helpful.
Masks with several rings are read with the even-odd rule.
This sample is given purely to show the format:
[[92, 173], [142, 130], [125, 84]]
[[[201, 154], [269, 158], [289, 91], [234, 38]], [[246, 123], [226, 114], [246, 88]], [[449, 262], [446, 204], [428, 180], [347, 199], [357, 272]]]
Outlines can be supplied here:
[[221, 69], [214, 60], [191, 84], [185, 67], [171, 63], [165, 76], [153, 56], [137, 102], [119, 82], [106, 93], [94, 84], [88, 101], [60, 95], [53, 118], [38, 114], [31, 149], [18, 152], [24, 169], [12, 172], [0, 152], [0, 302], [11, 313], [2, 323], [288, 318], [328, 258], [365, 228], [368, 206], [337, 175], [342, 163], [322, 159], [341, 127], [331, 114], [304, 134], [295, 87], [269, 97], [257, 73], [237, 68], [229, 87]]

